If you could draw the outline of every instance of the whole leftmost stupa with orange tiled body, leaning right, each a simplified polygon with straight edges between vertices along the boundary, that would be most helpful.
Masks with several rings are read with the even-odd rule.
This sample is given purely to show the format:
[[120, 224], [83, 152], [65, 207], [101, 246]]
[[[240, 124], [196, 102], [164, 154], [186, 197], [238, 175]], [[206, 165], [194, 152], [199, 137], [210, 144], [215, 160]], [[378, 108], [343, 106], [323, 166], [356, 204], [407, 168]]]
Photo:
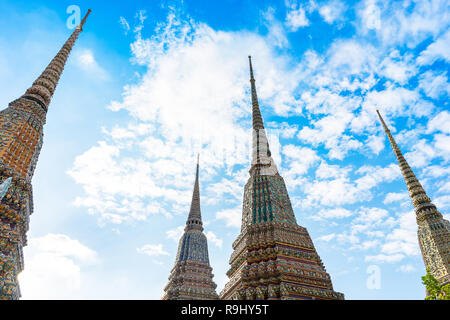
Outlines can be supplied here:
[[[0, 183], [9, 178], [0, 199], [0, 299], [18, 299], [17, 275], [23, 270], [33, 212], [31, 179], [43, 143], [43, 126], [56, 85], [90, 10], [32, 86], [0, 111]], [[5, 186], [6, 187], [6, 186]]]

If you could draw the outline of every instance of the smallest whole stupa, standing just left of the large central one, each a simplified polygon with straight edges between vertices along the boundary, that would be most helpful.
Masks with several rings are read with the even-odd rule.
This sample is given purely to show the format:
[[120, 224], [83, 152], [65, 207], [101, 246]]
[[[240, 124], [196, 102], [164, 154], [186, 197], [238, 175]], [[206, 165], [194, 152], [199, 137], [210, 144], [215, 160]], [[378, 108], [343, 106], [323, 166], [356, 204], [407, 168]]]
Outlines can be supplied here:
[[164, 288], [162, 300], [216, 300], [217, 285], [209, 264], [208, 241], [200, 211], [199, 164], [195, 175], [191, 209], [178, 244], [175, 266]]

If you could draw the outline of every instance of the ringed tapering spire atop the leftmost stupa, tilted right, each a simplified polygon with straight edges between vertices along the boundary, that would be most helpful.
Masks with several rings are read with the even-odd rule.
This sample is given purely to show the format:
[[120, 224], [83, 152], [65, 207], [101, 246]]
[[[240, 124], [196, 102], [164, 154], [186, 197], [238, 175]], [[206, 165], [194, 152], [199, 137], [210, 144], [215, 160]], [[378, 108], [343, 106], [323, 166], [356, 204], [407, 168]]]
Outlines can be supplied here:
[[48, 105], [55, 92], [64, 65], [66, 64], [67, 58], [69, 57], [70, 51], [72, 50], [78, 35], [83, 30], [83, 25], [86, 22], [89, 13], [91, 13], [91, 9], [88, 10], [80, 25], [75, 28], [75, 31], [49, 63], [47, 68], [45, 68], [44, 72], [42, 72], [42, 74], [33, 82], [33, 85], [21, 98], [36, 102], [45, 112], [47, 112]]

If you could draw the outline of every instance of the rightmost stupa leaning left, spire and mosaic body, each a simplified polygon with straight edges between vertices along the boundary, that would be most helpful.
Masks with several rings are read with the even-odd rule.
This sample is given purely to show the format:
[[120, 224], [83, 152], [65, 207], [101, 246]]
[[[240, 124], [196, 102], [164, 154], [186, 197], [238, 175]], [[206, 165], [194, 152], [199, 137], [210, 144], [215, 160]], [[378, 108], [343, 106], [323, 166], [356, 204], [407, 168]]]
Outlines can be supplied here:
[[400, 170], [408, 187], [409, 195], [415, 207], [417, 221], [417, 237], [422, 252], [425, 268], [441, 284], [450, 282], [450, 223], [442, 217], [436, 206], [431, 202], [425, 190], [405, 160], [400, 148], [394, 140], [389, 128], [377, 110]]

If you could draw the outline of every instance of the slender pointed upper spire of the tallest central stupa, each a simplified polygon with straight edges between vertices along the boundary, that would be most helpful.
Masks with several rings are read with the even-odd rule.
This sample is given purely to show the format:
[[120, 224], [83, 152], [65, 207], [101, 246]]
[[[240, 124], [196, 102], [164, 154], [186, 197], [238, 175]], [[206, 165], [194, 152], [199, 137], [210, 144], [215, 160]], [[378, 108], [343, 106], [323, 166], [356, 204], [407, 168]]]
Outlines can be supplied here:
[[250, 64], [250, 85], [252, 90], [252, 166], [250, 174], [275, 175], [277, 167], [271, 157], [269, 142], [264, 129], [264, 123], [259, 109], [258, 96], [256, 94], [255, 78], [253, 77], [252, 58], [248, 56]]

